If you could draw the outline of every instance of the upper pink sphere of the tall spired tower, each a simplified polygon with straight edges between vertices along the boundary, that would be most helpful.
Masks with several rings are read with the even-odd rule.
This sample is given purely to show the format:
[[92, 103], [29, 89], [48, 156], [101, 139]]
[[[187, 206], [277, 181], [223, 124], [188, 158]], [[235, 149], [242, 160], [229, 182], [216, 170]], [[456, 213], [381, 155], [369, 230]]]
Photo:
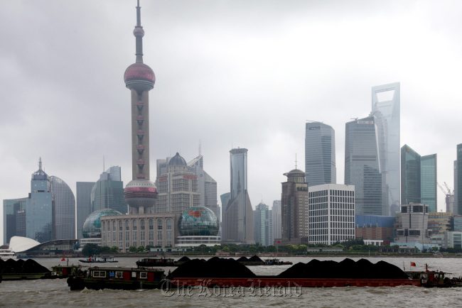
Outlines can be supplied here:
[[143, 92], [154, 88], [156, 76], [154, 71], [144, 63], [134, 63], [124, 73], [125, 86]]

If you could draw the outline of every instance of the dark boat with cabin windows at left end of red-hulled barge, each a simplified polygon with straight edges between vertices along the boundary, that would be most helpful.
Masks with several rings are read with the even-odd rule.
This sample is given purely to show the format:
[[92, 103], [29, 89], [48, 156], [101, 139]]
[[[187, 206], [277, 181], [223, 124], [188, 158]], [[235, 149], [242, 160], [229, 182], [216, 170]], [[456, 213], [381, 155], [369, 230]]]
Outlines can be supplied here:
[[83, 290], [139, 290], [159, 289], [165, 275], [164, 271], [156, 268], [98, 268], [87, 270], [68, 278], [71, 291]]

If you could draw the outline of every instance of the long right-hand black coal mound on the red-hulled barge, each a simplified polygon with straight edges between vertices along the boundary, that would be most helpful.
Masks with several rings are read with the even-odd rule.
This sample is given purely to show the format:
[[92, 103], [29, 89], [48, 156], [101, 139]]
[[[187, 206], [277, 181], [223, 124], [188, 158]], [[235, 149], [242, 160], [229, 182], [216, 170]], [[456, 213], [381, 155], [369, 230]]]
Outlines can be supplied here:
[[355, 279], [406, 279], [408, 276], [396, 265], [385, 261], [371, 263], [360, 259], [357, 262], [345, 258], [340, 262], [332, 260], [311, 260], [296, 263], [277, 277], [280, 278], [355, 278]]

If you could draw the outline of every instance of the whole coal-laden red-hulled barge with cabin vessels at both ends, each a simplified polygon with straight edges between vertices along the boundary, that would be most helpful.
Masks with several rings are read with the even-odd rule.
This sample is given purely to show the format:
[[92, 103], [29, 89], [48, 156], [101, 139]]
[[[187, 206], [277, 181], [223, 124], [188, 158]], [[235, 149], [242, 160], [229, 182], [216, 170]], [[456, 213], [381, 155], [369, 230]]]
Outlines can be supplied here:
[[443, 272], [421, 272], [409, 276], [385, 261], [371, 263], [346, 258], [343, 261], [311, 260], [297, 263], [279, 275], [262, 276], [232, 258], [193, 259], [164, 276], [162, 269], [89, 268], [84, 275], [70, 277], [70, 290], [137, 290], [192, 287], [460, 287]]

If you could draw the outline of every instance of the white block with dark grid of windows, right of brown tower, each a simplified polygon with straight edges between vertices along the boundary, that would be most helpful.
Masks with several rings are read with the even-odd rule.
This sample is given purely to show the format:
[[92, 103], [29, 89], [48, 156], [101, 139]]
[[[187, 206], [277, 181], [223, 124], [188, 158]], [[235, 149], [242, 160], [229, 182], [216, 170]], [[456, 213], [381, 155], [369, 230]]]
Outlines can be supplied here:
[[309, 242], [332, 245], [355, 239], [355, 187], [324, 184], [309, 189]]

